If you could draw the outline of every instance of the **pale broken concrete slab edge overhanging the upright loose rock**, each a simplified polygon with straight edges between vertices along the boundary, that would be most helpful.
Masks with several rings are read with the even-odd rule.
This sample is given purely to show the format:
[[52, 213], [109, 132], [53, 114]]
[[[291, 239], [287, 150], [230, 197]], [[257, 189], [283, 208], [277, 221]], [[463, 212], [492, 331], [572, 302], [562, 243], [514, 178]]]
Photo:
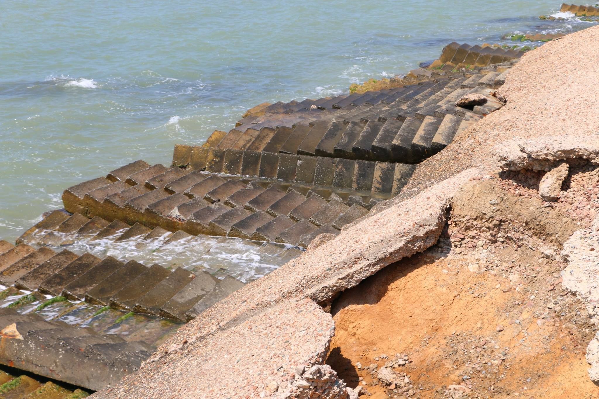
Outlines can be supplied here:
[[586, 159], [599, 165], [597, 136], [542, 136], [534, 140], [513, 139], [495, 146], [498, 165], [503, 170], [553, 169], [560, 160]]

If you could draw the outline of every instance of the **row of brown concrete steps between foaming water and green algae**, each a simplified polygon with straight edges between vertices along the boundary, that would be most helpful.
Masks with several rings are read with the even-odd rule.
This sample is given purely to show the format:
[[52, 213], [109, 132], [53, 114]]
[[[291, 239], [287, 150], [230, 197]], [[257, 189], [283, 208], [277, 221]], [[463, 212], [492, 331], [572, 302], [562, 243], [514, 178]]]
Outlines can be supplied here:
[[[37, 226], [59, 229], [79, 218], [83, 217], [55, 211]], [[110, 224], [99, 233], [108, 226]], [[132, 230], [138, 230], [137, 226], [120, 230], [117, 239]], [[56, 230], [45, 231], [49, 233], [42, 238]], [[152, 233], [156, 235], [157, 232], [144, 236]], [[184, 235], [164, 232], [161, 238], [172, 242], [184, 239]], [[203, 270], [189, 271], [180, 267], [171, 270], [158, 264], [147, 267], [135, 260], [123, 262], [110, 256], [102, 260], [87, 252], [82, 255], [68, 249], [55, 252], [45, 246], [35, 249], [24, 243], [32, 236], [34, 233], [21, 237], [16, 246], [0, 241], [0, 283], [11, 287], [5, 291], [7, 297], [28, 295], [31, 302], [45, 299], [44, 295], [59, 297], [60, 301], [85, 300], [96, 305], [90, 307], [90, 312], [110, 306], [127, 312], [188, 321], [244, 285], [231, 276], [220, 280]]]

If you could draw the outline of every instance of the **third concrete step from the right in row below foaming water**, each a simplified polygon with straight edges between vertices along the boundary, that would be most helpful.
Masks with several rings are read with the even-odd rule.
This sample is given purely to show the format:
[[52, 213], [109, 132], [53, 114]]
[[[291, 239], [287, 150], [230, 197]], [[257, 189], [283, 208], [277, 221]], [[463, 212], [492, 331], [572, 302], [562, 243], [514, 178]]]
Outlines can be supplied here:
[[138, 299], [134, 311], [150, 315], [159, 315], [161, 307], [186, 287], [194, 277], [195, 275], [188, 270], [177, 267], [177, 269], [173, 270], [167, 278], [159, 282], [152, 290]]

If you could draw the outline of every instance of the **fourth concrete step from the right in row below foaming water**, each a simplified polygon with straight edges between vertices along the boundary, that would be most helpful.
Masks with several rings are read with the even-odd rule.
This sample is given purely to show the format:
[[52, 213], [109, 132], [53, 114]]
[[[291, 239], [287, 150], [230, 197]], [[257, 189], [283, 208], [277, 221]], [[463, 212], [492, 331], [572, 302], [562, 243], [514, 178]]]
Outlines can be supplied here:
[[149, 293], [156, 285], [171, 274], [170, 270], [153, 264], [141, 272], [129, 284], [121, 288], [110, 298], [110, 306], [116, 309], [133, 309], [137, 300]]

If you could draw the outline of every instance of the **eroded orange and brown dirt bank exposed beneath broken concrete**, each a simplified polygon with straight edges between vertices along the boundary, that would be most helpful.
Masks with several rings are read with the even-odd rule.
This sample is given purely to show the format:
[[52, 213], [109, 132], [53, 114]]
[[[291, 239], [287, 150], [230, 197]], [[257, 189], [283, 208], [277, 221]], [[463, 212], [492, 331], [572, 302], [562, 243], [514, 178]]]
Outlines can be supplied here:
[[558, 257], [594, 217], [595, 167], [573, 168], [555, 203], [536, 191], [543, 174], [467, 185], [437, 245], [341, 294], [327, 363], [347, 385], [370, 398], [599, 395], [585, 361], [595, 326]]

